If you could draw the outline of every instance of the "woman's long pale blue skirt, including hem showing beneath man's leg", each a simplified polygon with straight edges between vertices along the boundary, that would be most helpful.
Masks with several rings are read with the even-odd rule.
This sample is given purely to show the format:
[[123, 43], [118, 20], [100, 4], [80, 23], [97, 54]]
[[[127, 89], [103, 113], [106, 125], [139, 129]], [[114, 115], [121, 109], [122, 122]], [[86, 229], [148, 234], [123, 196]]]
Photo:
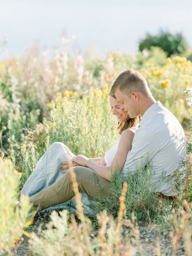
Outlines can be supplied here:
[[[71, 150], [67, 146], [65, 146], [63, 143], [60, 143], [60, 142], [53, 143], [51, 146], [49, 146], [45, 154], [38, 160], [36, 164], [36, 168], [31, 173], [27, 181], [24, 183], [24, 187], [21, 191], [21, 194], [29, 195], [29, 197], [34, 196], [35, 198], [36, 196], [41, 195], [41, 194], [38, 194], [39, 192], [45, 191], [44, 193], [46, 193], [47, 191], [46, 189], [52, 184], [57, 183], [57, 181], [59, 181], [61, 178], [64, 178], [65, 176], [67, 178], [68, 173], [64, 174], [60, 170], [61, 163], [64, 161], [67, 161], [69, 158], [72, 158], [73, 156], [74, 154], [71, 152]], [[93, 182], [95, 181], [93, 176], [93, 171], [91, 174], [91, 179]], [[90, 214], [94, 212], [94, 210], [89, 207], [90, 200], [88, 196], [83, 192], [81, 194], [82, 194], [82, 202], [84, 203], [83, 204], [84, 215], [88, 217], [90, 216]], [[54, 197], [57, 195], [55, 195], [55, 193], [52, 193], [52, 196]], [[71, 194], [70, 196], [68, 196], [68, 198], [72, 198]], [[67, 209], [69, 213], [77, 214], [76, 203], [74, 198], [72, 198], [67, 202], [65, 200], [60, 200], [60, 202], [65, 202], [65, 203], [62, 203], [59, 205], [58, 205], [59, 201], [58, 200], [56, 201], [57, 201], [57, 204], [55, 206], [52, 206], [49, 209], [51, 210]], [[53, 205], [53, 204], [48, 203], [47, 205], [49, 207], [50, 205]]]

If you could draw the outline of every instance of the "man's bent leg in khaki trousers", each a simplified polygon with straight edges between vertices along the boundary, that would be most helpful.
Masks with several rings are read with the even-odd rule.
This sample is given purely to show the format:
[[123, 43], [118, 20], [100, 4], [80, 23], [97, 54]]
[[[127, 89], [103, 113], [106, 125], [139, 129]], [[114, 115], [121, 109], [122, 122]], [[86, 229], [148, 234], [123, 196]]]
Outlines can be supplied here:
[[[83, 166], [74, 167], [74, 171], [81, 192], [95, 198], [100, 198], [102, 195], [109, 195], [110, 182], [96, 174], [99, 183], [98, 186], [94, 176], [95, 171]], [[73, 196], [70, 173], [66, 172], [60, 180], [49, 186], [46, 190], [31, 196], [30, 202], [33, 203], [33, 207], [36, 210], [43, 210], [64, 203]]]

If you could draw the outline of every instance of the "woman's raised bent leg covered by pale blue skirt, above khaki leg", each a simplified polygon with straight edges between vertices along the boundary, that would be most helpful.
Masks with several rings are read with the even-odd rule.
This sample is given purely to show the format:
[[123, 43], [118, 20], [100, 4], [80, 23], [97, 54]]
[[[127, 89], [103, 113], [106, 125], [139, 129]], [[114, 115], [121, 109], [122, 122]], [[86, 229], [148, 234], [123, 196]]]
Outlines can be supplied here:
[[21, 194], [32, 196], [55, 183], [64, 175], [60, 171], [61, 162], [73, 156], [71, 150], [63, 143], [53, 143], [38, 160], [35, 170], [24, 183]]

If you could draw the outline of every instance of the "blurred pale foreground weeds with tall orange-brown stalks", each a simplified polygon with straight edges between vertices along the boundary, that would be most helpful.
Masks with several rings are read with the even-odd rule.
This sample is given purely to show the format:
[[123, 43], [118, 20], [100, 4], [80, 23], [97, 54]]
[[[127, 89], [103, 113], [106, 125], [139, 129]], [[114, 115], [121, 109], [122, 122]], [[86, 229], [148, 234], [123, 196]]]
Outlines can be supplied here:
[[[93, 231], [90, 219], [84, 218], [81, 204], [81, 194], [78, 191], [76, 176], [73, 169], [70, 169], [72, 188], [77, 203], [77, 223], [74, 215], [68, 220], [67, 211], [64, 210], [60, 216], [56, 212], [51, 214], [52, 221], [48, 223], [47, 230], [38, 234], [31, 233], [30, 250], [33, 255], [144, 255], [144, 247], [140, 242], [140, 233], [134, 214], [126, 218], [126, 193], [127, 183], [124, 182], [120, 195], [120, 208], [117, 220], [114, 220], [106, 211], [97, 214], [99, 230]], [[184, 207], [169, 215], [171, 225], [170, 238], [172, 241], [172, 255], [176, 255], [180, 246], [180, 239], [184, 239], [184, 249], [191, 255], [191, 231], [192, 231], [192, 204], [184, 202]], [[126, 227], [126, 232], [123, 232]], [[154, 248], [157, 255], [161, 255], [160, 243], [156, 241]]]

